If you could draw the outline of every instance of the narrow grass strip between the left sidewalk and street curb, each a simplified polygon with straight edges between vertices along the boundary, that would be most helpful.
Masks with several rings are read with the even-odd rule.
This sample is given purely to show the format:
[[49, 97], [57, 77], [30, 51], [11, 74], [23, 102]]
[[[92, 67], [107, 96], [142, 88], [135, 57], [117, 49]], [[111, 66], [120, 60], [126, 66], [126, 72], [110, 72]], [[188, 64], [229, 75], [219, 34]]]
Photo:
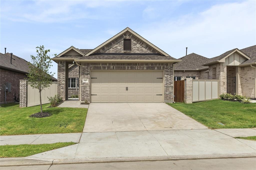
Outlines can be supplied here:
[[53, 149], [76, 144], [74, 142], [59, 142], [51, 144], [21, 144], [0, 146], [0, 157], [25, 157]]

